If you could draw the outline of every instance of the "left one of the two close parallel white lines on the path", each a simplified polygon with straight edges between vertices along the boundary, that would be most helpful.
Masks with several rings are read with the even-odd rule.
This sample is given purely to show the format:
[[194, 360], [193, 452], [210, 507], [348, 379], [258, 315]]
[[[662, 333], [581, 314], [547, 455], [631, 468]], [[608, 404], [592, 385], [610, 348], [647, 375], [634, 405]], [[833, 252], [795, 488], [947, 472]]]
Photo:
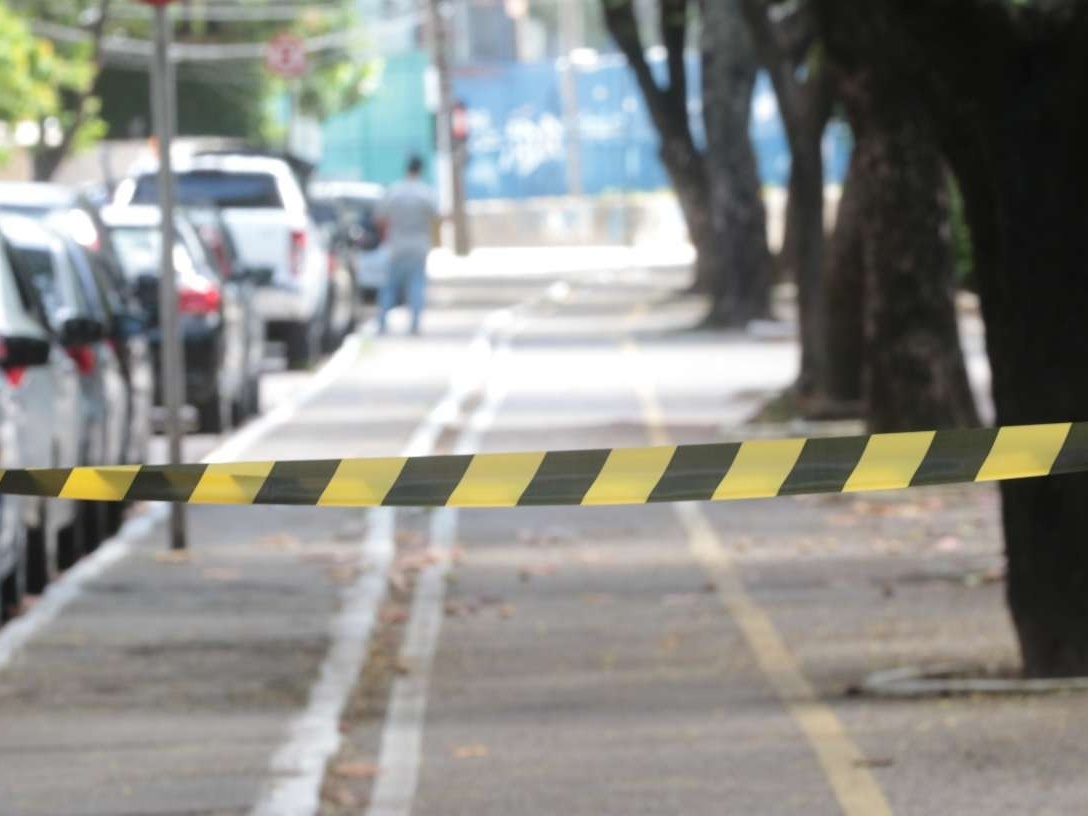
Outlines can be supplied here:
[[[516, 309], [493, 312], [477, 332], [470, 360], [454, 376], [449, 391], [416, 429], [405, 456], [425, 456], [443, 429], [457, 421], [465, 401], [484, 387], [491, 368], [492, 336], [503, 330]], [[435, 514], [435, 518], [442, 511]], [[435, 522], [440, 523], [440, 522]], [[362, 544], [364, 573], [343, 594], [342, 610], [330, 627], [330, 648], [306, 709], [294, 720], [287, 742], [272, 757], [272, 779], [254, 816], [306, 816], [318, 811], [325, 764], [339, 747], [339, 720], [348, 695], [362, 671], [378, 609], [385, 598], [388, 567], [394, 555], [395, 511], [368, 511]]]

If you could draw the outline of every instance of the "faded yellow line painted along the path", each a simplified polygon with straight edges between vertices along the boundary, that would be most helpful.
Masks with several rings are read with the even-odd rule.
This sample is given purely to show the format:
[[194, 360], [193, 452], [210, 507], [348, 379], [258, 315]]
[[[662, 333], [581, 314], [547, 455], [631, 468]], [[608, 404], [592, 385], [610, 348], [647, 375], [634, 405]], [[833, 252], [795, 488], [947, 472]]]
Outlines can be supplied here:
[[[623, 351], [631, 363], [631, 379], [651, 444], [673, 444], [656, 388], [646, 378], [645, 367], [639, 364], [639, 348], [630, 337], [623, 341]], [[864, 766], [864, 754], [805, 678], [770, 616], [749, 595], [702, 505], [678, 503], [672, 508], [688, 534], [692, 554], [714, 579], [718, 597], [755, 654], [764, 677], [816, 754], [839, 807], [846, 816], [890, 816], [891, 806], [876, 778]]]

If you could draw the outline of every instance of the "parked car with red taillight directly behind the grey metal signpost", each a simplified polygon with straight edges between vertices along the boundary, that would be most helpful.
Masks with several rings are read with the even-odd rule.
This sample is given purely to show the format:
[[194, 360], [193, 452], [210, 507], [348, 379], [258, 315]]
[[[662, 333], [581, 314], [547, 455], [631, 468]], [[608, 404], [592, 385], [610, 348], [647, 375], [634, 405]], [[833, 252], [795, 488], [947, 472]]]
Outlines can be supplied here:
[[[111, 206], [102, 209], [102, 219], [148, 316], [156, 398], [161, 403], [160, 213], [154, 207]], [[185, 218], [175, 219], [175, 231], [173, 257], [185, 348], [185, 398], [198, 411], [200, 430], [219, 433], [257, 408], [263, 337], [254, 306], [254, 281], [247, 272], [224, 280]]]

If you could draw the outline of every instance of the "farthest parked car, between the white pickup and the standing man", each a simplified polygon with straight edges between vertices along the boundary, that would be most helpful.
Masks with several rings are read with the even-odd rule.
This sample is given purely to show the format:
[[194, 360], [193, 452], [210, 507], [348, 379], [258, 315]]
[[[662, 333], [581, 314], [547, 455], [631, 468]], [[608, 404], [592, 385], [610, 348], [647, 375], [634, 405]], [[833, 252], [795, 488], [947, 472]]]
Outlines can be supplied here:
[[316, 181], [310, 183], [309, 196], [314, 209], [326, 213], [335, 231], [334, 245], [347, 252], [358, 292], [374, 298], [388, 273], [378, 223], [385, 188], [368, 182]]

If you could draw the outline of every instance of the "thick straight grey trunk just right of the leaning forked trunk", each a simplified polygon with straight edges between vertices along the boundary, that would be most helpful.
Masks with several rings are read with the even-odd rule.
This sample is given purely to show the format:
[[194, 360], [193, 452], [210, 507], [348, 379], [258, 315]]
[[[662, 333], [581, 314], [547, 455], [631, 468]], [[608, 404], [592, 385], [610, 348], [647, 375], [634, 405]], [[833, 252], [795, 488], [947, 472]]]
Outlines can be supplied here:
[[767, 215], [749, 137], [756, 58], [739, 0], [704, 3], [703, 119], [710, 228], [720, 257], [709, 322], [744, 326], [770, 300]]

